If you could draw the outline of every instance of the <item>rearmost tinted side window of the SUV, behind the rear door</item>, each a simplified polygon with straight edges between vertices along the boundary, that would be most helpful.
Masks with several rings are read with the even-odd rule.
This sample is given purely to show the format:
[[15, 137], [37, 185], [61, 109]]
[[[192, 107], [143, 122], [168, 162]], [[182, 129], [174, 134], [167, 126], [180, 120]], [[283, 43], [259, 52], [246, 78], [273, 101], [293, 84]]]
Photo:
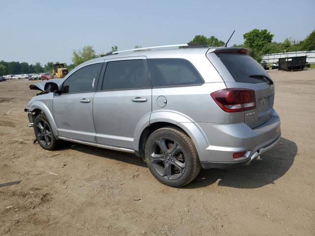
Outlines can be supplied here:
[[148, 59], [153, 87], [200, 85], [204, 81], [186, 59]]

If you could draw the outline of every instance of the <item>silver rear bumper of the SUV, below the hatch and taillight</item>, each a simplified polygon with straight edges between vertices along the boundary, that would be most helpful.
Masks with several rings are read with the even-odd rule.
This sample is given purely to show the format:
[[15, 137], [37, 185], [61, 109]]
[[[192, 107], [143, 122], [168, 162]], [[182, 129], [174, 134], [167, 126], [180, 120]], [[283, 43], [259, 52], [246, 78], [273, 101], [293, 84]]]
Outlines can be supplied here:
[[[199, 148], [203, 168], [234, 168], [274, 147], [281, 137], [280, 118], [274, 110], [267, 122], [254, 129], [245, 123], [198, 123], [207, 138], [208, 147]], [[234, 152], [245, 151], [243, 157], [234, 159]]]

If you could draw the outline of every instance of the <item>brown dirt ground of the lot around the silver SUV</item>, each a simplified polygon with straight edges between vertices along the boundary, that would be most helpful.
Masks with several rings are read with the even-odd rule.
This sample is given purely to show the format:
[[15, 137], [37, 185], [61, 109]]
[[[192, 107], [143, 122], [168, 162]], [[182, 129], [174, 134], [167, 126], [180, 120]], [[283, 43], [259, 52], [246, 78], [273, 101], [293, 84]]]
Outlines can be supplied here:
[[248, 167], [202, 170], [181, 189], [131, 154], [33, 145], [24, 108], [35, 82], [1, 82], [0, 235], [314, 236], [315, 70], [269, 73], [281, 141]]

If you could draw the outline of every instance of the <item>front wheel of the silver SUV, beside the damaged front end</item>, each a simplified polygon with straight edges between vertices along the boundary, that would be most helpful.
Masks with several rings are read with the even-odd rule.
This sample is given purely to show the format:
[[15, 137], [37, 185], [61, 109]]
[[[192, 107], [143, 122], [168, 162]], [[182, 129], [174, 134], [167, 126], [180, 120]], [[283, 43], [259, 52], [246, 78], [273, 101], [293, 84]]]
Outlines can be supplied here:
[[59, 141], [52, 132], [51, 125], [45, 114], [39, 114], [34, 120], [34, 132], [38, 144], [45, 150], [54, 150], [59, 146]]

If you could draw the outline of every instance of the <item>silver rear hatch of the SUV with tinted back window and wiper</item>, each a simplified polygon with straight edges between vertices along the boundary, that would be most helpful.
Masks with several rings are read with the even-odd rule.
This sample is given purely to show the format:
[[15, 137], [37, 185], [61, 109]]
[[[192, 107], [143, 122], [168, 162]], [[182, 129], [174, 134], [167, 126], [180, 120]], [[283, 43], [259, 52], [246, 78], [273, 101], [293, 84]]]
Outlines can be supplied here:
[[268, 73], [248, 55], [247, 49], [219, 48], [212, 51], [207, 57], [221, 74], [228, 89], [255, 91], [256, 108], [240, 112], [244, 114], [244, 122], [251, 128], [265, 123], [272, 113], [275, 98], [275, 87]]

